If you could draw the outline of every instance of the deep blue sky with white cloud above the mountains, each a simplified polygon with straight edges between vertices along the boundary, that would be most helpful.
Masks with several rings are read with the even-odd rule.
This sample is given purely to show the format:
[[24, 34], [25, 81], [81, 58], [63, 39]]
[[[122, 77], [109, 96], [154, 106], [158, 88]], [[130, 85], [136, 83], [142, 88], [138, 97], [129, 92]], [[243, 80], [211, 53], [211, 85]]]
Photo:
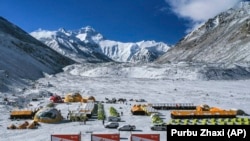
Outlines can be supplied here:
[[91, 26], [110, 40], [177, 43], [240, 0], [1, 0], [0, 16], [26, 32]]

